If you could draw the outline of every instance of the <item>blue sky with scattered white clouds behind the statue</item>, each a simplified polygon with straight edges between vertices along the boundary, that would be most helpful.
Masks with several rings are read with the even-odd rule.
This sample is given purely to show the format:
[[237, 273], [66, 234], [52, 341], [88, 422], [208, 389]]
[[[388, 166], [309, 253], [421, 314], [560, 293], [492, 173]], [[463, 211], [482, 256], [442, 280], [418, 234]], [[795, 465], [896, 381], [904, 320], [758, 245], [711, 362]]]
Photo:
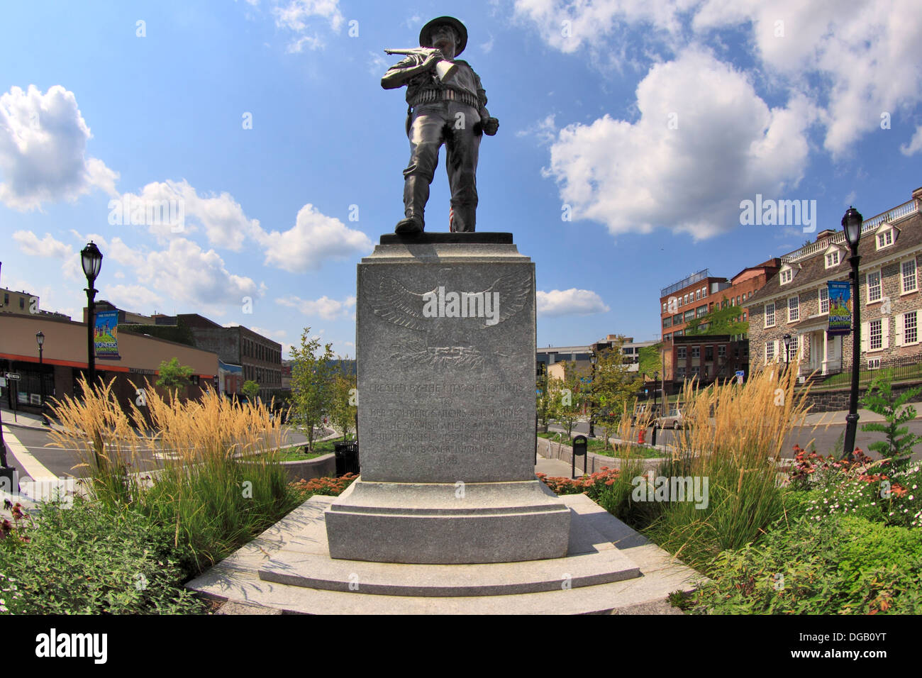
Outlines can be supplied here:
[[[0, 21], [0, 286], [100, 298], [354, 355], [355, 265], [403, 211], [404, 90], [385, 47], [443, 14], [490, 99], [479, 231], [536, 262], [538, 345], [659, 336], [659, 290], [796, 249], [922, 185], [917, 0], [17, 3]], [[252, 122], [252, 125], [250, 124]], [[427, 230], [446, 231], [443, 158]], [[177, 224], [114, 219], [169, 199]], [[133, 202], [134, 201], [134, 202]], [[143, 204], [143, 202], [142, 202]], [[564, 220], [565, 215], [571, 220]], [[112, 223], [112, 221], [116, 221]], [[252, 299], [247, 304], [244, 298]]]

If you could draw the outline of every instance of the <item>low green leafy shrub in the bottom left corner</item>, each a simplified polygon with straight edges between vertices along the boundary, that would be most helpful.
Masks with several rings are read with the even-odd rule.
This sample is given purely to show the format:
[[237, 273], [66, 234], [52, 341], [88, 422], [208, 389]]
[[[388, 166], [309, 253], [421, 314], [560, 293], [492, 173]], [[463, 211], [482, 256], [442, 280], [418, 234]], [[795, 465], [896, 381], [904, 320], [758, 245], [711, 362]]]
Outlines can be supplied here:
[[[76, 498], [42, 507], [0, 541], [0, 612], [205, 613], [183, 589], [189, 553], [170, 529], [133, 510], [112, 513]], [[28, 541], [24, 541], [28, 539]]]

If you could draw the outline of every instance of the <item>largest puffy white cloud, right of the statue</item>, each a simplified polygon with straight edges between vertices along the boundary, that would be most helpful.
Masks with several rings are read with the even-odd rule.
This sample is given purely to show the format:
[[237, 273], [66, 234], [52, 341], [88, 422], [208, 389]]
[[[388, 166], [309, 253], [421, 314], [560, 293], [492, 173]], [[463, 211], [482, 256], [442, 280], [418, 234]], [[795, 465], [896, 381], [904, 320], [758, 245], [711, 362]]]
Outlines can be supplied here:
[[733, 228], [740, 200], [798, 184], [816, 116], [800, 98], [770, 110], [747, 77], [694, 50], [651, 68], [637, 108], [635, 123], [569, 125], [550, 149], [548, 173], [573, 219], [612, 234], [664, 226], [700, 239]]

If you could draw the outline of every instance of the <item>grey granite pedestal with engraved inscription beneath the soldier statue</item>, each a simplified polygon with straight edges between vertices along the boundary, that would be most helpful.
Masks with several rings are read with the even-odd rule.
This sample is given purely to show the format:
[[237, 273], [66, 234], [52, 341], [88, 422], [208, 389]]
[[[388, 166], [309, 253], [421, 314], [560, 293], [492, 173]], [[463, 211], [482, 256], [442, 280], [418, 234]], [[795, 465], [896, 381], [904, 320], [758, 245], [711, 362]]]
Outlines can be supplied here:
[[535, 265], [508, 233], [384, 236], [359, 265], [361, 478], [333, 558], [559, 558], [570, 511], [535, 477]]

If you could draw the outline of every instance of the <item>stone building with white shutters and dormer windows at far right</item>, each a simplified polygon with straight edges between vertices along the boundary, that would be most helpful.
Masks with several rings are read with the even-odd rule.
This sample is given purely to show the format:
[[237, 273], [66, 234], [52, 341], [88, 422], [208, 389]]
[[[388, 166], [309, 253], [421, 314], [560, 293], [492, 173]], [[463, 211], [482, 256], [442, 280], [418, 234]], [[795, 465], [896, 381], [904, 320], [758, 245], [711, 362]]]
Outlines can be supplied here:
[[[861, 366], [918, 356], [922, 338], [922, 188], [912, 199], [864, 220], [858, 255]], [[750, 364], [800, 360], [800, 374], [834, 374], [851, 368], [852, 335], [830, 336], [830, 280], [849, 280], [845, 233], [823, 231], [816, 240], [781, 257], [779, 272], [750, 303]], [[854, 303], [855, 300], [852, 300]]]

